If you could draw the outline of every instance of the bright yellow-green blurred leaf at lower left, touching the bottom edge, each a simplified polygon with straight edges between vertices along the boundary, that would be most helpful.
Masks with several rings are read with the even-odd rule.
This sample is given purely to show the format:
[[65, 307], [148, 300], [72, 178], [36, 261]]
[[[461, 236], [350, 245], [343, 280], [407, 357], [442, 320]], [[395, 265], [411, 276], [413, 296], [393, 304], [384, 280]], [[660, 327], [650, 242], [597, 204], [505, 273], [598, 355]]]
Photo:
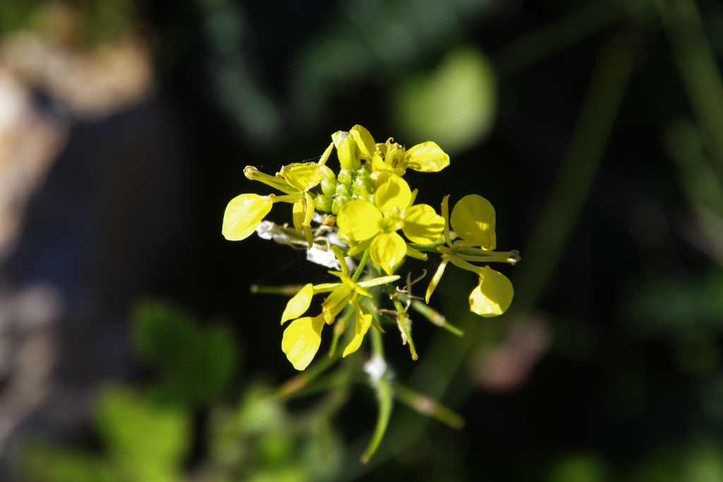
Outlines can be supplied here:
[[155, 405], [124, 387], [100, 392], [96, 425], [122, 480], [172, 482], [191, 442], [189, 415], [170, 405]]

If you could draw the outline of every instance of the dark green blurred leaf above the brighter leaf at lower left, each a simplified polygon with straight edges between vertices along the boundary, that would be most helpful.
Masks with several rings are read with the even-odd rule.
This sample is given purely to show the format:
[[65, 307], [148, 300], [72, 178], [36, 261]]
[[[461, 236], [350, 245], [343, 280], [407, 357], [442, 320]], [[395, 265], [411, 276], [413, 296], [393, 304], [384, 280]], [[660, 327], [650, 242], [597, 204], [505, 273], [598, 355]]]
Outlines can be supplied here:
[[239, 348], [223, 327], [199, 327], [187, 312], [160, 302], [136, 307], [138, 350], [158, 369], [153, 396], [184, 405], [208, 405], [226, 390], [239, 365]]

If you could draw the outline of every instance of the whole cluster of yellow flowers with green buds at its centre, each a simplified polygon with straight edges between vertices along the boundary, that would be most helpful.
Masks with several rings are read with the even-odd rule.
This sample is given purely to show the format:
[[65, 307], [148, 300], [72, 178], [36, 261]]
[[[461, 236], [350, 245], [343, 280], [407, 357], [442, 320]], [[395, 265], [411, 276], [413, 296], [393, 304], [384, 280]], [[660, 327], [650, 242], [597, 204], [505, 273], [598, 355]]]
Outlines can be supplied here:
[[[414, 203], [417, 190], [412, 191], [403, 178], [407, 169], [438, 172], [447, 167], [449, 156], [439, 146], [423, 142], [406, 150], [393, 139], [377, 143], [372, 134], [359, 125], [348, 132], [335, 132], [331, 137], [333, 142], [316, 163], [285, 165], [275, 176], [261, 173], [252, 166], [245, 168], [247, 178], [261, 181], [283, 194], [241, 194], [231, 199], [223, 216], [223, 236], [239, 241], [259, 228], [276, 202], [287, 202], [293, 205], [294, 228], [300, 237], [303, 235], [309, 249], [321, 238], [331, 246], [325, 236], [332, 232], [343, 241], [337, 241], [342, 247], [331, 248], [341, 271], [330, 271], [330, 274], [338, 276], [340, 282], [304, 286], [288, 302], [281, 317], [282, 324], [293, 320], [283, 334], [281, 348], [294, 368], [303, 370], [309, 365], [319, 349], [322, 328], [335, 322], [349, 305], [354, 306], [354, 336], [343, 356], [354, 353], [373, 323], [372, 314], [361, 306], [360, 298], [372, 298], [367, 288], [398, 280], [399, 276], [393, 273], [405, 257], [426, 260], [427, 254], [423, 251], [442, 255], [427, 288], [427, 303], [451, 262], [479, 275], [479, 285], [469, 296], [471, 311], [482, 317], [494, 317], [508, 309], [513, 298], [510, 280], [487, 265], [472, 264], [514, 264], [520, 259], [517, 251], [494, 251], [492, 205], [487, 199], [471, 194], [455, 205], [450, 219], [449, 196], [442, 202], [442, 215], [438, 215], [433, 207]], [[338, 173], [326, 165], [333, 150], [340, 165]], [[312, 229], [315, 212], [325, 214], [325, 229]], [[453, 237], [457, 239], [453, 241]], [[360, 254], [364, 256], [359, 269], [349, 276], [346, 257]], [[359, 281], [367, 258], [373, 263], [370, 272], [381, 270], [386, 276]], [[322, 302], [321, 314], [302, 317], [317, 293], [329, 293]]]

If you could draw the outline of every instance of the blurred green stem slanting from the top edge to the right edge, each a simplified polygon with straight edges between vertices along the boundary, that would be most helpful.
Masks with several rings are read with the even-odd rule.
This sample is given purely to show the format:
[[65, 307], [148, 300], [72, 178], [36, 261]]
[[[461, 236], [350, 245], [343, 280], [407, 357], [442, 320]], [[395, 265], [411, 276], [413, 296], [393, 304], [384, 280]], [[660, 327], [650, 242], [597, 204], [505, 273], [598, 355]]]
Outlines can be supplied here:
[[703, 141], [723, 179], [723, 81], [693, 0], [656, 0]]

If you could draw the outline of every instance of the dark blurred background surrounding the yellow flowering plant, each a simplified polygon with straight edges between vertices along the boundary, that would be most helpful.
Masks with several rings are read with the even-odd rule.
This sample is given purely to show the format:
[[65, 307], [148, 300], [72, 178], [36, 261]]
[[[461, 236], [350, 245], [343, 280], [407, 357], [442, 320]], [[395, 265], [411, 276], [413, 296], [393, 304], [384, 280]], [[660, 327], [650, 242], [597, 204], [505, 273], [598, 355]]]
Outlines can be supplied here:
[[[722, 57], [715, 0], [0, 0], [0, 480], [723, 481]], [[465, 336], [385, 337], [466, 423], [398, 403], [368, 465], [369, 387], [264, 396], [249, 285], [325, 269], [221, 236], [244, 166], [354, 124], [523, 258], [502, 317], [448, 270]]]

